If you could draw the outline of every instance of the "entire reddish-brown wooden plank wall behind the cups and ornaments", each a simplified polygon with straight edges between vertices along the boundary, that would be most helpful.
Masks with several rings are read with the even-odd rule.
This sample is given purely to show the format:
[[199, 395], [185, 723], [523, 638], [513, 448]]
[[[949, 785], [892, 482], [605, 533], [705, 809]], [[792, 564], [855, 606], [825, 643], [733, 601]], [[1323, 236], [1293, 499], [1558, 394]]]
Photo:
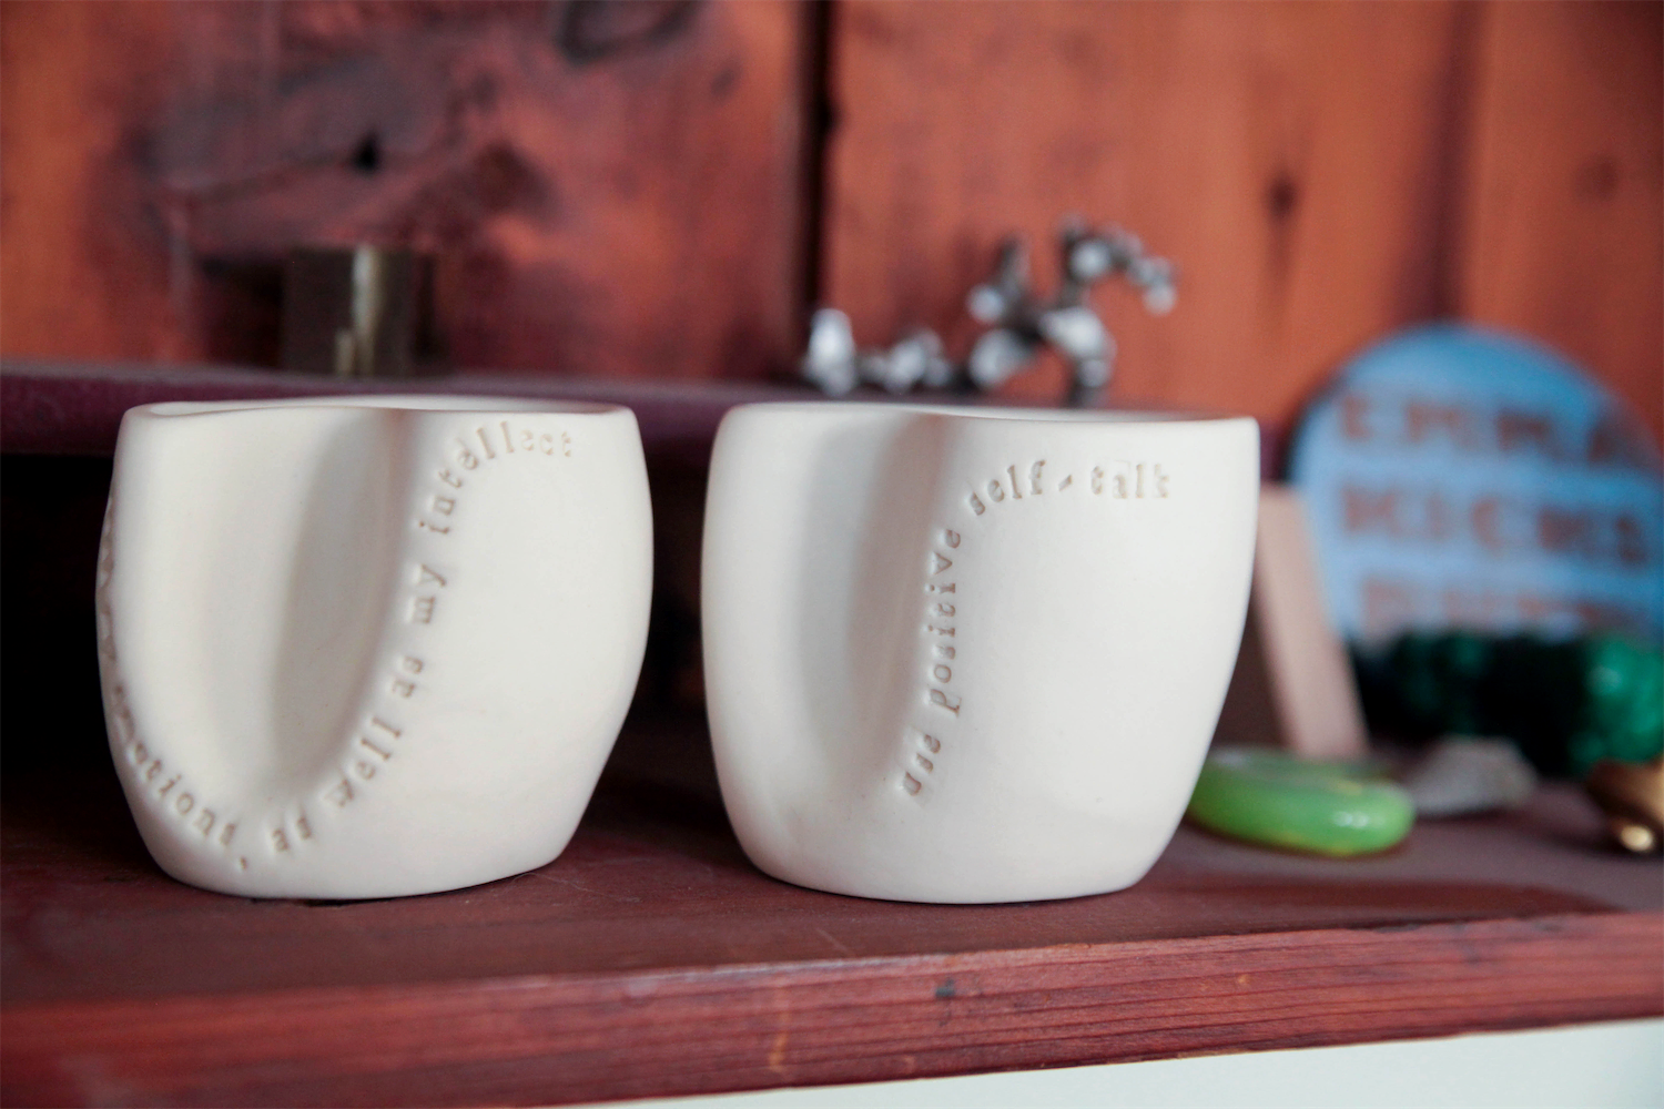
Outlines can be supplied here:
[[0, 354], [273, 361], [283, 251], [369, 238], [458, 362], [762, 376], [814, 294], [962, 349], [1078, 211], [1183, 271], [1102, 298], [1122, 396], [1281, 422], [1463, 314], [1664, 432], [1649, 0], [0, 0]]

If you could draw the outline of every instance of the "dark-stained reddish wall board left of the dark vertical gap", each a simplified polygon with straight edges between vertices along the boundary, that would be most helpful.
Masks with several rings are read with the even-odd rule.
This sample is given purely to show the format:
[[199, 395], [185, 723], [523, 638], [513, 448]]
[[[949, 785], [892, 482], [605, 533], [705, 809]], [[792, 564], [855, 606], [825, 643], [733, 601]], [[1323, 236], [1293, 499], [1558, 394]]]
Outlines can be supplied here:
[[434, 256], [463, 366], [797, 343], [795, 0], [0, 3], [0, 351], [275, 364], [308, 244]]

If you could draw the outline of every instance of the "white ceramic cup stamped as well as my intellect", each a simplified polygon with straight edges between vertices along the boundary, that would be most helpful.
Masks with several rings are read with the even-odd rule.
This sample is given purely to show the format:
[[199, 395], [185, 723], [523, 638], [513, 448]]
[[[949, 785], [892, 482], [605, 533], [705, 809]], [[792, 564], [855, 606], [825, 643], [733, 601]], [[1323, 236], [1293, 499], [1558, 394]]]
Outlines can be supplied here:
[[629, 707], [636, 417], [333, 397], [121, 421], [98, 564], [115, 765], [165, 871], [451, 890], [564, 850]]

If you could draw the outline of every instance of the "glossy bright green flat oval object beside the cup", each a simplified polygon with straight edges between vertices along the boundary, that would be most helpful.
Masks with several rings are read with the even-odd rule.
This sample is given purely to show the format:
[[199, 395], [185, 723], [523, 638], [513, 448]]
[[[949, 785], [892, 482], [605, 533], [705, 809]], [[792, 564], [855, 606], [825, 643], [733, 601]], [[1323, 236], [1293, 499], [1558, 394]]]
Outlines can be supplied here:
[[1404, 790], [1356, 763], [1225, 748], [1208, 755], [1186, 816], [1210, 831], [1311, 855], [1373, 855], [1409, 833]]

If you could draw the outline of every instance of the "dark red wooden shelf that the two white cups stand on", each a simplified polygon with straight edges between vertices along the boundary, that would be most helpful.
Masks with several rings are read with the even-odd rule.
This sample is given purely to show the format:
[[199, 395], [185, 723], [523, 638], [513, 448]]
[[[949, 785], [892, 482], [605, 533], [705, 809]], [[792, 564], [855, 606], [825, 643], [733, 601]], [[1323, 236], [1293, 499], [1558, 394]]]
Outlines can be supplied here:
[[1133, 890], [919, 906], [757, 873], [632, 723], [567, 851], [458, 893], [163, 876], [106, 763], [0, 800], [5, 1104], [552, 1104], [1664, 1014], [1664, 866], [1569, 786], [1328, 861], [1181, 828]]

